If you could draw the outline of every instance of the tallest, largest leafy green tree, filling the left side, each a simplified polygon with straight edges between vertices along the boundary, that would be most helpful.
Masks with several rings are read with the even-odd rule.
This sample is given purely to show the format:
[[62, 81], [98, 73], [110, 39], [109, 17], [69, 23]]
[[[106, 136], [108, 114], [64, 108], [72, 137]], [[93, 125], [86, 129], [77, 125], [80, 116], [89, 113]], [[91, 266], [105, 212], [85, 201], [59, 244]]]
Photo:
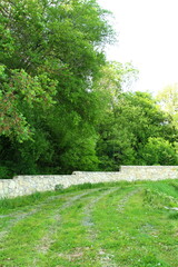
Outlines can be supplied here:
[[115, 39], [108, 13], [95, 0], [1, 1], [2, 167], [56, 174], [96, 166], [101, 105], [92, 85], [106, 61], [101, 47]]

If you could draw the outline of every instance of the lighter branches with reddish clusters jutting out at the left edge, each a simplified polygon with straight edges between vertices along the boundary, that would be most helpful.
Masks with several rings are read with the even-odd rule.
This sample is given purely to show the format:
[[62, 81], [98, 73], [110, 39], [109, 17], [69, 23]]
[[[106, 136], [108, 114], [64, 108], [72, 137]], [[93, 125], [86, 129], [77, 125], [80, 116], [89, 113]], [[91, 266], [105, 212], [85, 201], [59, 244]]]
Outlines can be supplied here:
[[47, 73], [31, 77], [24, 70], [9, 70], [11, 75], [7, 77], [1, 65], [0, 134], [18, 141], [28, 140], [32, 131], [27, 112], [39, 108], [42, 112], [53, 103], [57, 81]]

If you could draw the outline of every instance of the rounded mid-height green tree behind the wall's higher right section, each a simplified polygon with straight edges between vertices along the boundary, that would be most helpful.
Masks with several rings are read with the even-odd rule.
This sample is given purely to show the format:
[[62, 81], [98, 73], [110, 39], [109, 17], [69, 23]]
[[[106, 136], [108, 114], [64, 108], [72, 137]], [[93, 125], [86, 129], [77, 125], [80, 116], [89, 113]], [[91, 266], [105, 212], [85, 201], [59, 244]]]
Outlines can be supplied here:
[[[100, 125], [98, 154], [102, 168], [120, 165], [144, 165], [142, 148], [149, 138], [176, 140], [177, 131], [156, 100], [145, 92], [120, 92], [113, 109]], [[174, 151], [174, 148], [172, 148]]]

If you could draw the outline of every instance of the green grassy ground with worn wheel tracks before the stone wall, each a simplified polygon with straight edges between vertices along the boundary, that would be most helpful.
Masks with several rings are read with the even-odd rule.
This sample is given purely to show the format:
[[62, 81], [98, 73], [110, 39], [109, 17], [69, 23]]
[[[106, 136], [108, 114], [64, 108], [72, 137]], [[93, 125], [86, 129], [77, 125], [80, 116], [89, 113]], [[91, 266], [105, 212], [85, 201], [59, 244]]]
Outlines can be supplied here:
[[178, 267], [178, 180], [0, 200], [0, 267]]

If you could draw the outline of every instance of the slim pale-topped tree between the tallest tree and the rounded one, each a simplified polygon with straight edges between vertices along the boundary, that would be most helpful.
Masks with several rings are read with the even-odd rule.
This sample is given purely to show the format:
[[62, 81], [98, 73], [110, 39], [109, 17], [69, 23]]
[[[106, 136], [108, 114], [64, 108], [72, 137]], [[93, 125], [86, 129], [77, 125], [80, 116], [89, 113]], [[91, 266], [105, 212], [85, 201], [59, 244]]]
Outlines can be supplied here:
[[[121, 164], [122, 149], [125, 147], [125, 161], [130, 162], [134, 157], [132, 149], [125, 138], [118, 137], [118, 107], [122, 88], [129, 86], [137, 78], [138, 71], [131, 63], [107, 62], [100, 70], [100, 76], [93, 85], [93, 90], [101, 93], [102, 110], [101, 119], [98, 123], [99, 139], [97, 152], [100, 160], [100, 168], [106, 170], [118, 170]], [[129, 159], [129, 160], [128, 160]]]

